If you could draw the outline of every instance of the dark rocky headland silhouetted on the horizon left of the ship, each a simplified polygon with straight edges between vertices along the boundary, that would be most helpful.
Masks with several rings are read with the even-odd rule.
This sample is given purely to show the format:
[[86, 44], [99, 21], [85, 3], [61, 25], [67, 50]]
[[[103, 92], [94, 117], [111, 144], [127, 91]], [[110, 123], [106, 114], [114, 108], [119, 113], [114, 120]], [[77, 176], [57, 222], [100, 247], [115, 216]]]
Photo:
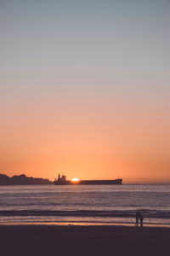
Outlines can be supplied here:
[[42, 177], [26, 177], [25, 174], [14, 175], [8, 177], [5, 174], [0, 174], [0, 185], [42, 185], [42, 184], [53, 184], [47, 178]]

